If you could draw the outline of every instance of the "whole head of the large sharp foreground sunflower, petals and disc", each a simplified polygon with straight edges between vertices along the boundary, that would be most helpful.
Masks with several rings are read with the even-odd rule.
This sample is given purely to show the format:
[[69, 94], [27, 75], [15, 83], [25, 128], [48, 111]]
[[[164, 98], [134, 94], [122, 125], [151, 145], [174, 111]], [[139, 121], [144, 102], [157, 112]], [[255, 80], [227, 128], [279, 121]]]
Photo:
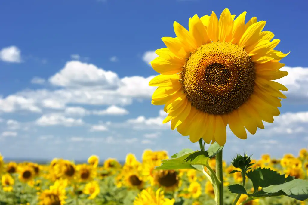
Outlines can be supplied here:
[[245, 128], [255, 134], [262, 121], [280, 114], [280, 98], [286, 98], [280, 90], [287, 88], [273, 80], [288, 74], [279, 71], [288, 54], [273, 50], [280, 40], [262, 31], [265, 21], [253, 17], [245, 24], [245, 15], [234, 20], [228, 9], [219, 20], [214, 12], [194, 15], [189, 31], [174, 22], [177, 37], [163, 37], [167, 48], [156, 50], [151, 65], [160, 75], [149, 83], [158, 86], [152, 104], [165, 105], [163, 123], [171, 121], [171, 129], [192, 142], [203, 138], [222, 146], [228, 124], [246, 139]]

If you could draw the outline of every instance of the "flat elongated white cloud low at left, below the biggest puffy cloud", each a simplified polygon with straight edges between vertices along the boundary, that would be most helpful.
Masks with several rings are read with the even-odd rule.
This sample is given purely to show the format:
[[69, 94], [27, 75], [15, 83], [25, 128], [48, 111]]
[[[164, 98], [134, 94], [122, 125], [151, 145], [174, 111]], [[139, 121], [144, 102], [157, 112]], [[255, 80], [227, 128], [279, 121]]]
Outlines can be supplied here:
[[62, 114], [54, 113], [43, 115], [38, 118], [36, 124], [39, 126], [53, 126], [53, 125], [63, 125], [67, 127], [80, 126], [83, 125], [82, 119], [75, 119], [70, 117], [65, 117]]

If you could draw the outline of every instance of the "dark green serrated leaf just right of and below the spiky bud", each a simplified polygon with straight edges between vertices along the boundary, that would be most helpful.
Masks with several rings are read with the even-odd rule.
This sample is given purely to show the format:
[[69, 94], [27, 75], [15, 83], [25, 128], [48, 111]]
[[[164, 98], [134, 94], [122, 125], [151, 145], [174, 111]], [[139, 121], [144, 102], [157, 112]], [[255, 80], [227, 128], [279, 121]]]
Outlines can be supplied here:
[[255, 191], [258, 190], [259, 187], [268, 187], [270, 185], [278, 185], [284, 182], [289, 182], [293, 180], [293, 177], [288, 176], [285, 178], [285, 174], [278, 174], [274, 170], [270, 170], [267, 168], [261, 169], [260, 167], [249, 171], [246, 176], [252, 181], [253, 188]]

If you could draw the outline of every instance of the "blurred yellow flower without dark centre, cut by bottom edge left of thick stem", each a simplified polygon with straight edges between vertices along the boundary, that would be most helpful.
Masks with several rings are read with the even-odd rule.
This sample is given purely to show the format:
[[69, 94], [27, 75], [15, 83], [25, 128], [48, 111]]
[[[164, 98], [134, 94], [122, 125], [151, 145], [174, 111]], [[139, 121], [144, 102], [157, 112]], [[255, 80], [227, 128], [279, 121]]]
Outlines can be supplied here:
[[158, 189], [156, 192], [152, 190], [152, 187], [144, 189], [135, 198], [133, 205], [173, 205], [174, 199], [164, 198], [164, 192]]

